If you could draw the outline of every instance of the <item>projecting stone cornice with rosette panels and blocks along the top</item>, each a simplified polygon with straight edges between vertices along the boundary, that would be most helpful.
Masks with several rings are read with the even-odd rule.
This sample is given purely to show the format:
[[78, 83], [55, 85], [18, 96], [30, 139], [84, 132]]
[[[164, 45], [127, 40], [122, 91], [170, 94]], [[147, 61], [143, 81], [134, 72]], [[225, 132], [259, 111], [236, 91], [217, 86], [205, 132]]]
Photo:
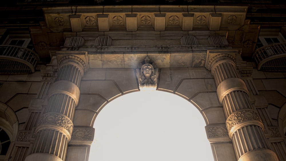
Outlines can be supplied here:
[[53, 32], [237, 30], [244, 24], [247, 6], [79, 6], [43, 11]]

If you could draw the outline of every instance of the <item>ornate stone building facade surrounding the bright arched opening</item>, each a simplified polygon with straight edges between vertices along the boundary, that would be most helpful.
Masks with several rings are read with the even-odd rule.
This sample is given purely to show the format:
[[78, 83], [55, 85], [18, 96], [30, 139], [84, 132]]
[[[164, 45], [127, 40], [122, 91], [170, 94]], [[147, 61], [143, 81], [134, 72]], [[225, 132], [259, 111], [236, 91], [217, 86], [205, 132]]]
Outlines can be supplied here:
[[140, 76], [197, 107], [215, 161], [285, 160], [284, 23], [251, 22], [250, 7], [47, 6], [26, 30], [8, 19], [0, 160], [87, 161], [96, 116]]

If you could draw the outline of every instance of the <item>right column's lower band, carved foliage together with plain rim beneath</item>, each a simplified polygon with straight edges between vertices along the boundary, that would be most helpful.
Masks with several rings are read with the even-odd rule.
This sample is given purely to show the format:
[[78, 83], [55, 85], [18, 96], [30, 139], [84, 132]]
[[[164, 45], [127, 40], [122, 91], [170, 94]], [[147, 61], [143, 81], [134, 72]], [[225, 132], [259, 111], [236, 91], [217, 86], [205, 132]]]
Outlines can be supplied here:
[[247, 125], [257, 125], [264, 129], [264, 125], [259, 114], [252, 109], [242, 109], [235, 111], [227, 118], [225, 123], [227, 130], [229, 132], [229, 137], [231, 138], [233, 133], [240, 129], [241, 127]]

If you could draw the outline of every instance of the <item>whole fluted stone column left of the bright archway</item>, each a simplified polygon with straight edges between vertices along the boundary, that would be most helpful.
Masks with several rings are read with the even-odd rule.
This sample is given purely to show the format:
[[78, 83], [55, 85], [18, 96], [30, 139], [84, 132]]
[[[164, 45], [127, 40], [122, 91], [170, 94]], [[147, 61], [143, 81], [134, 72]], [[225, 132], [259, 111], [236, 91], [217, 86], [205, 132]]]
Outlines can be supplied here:
[[49, 89], [48, 104], [36, 128], [31, 154], [25, 161], [64, 161], [73, 131], [80, 80], [86, 65], [77, 56], [59, 60], [59, 72]]

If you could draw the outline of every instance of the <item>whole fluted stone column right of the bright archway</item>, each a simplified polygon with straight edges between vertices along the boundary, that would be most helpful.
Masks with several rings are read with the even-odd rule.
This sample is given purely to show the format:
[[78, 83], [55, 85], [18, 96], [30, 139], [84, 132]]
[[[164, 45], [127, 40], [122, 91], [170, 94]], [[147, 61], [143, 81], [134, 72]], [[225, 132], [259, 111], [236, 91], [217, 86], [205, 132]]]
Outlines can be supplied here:
[[217, 95], [227, 118], [226, 127], [239, 161], [278, 161], [270, 150], [259, 114], [253, 110], [247, 87], [229, 54], [214, 56], [208, 68], [217, 85]]

